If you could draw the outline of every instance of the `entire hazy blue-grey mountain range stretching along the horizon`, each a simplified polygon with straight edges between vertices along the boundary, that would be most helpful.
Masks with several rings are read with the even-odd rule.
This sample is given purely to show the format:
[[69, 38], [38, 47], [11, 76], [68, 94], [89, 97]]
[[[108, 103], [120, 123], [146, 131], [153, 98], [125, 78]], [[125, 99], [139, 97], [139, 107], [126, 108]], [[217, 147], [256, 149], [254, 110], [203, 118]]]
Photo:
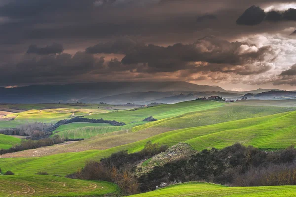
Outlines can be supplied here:
[[100, 82], [67, 85], [31, 85], [17, 88], [0, 88], [0, 103], [110, 103], [136, 104], [177, 103], [198, 97], [217, 95], [240, 98], [253, 91], [227, 91], [221, 87], [197, 85], [188, 82]]

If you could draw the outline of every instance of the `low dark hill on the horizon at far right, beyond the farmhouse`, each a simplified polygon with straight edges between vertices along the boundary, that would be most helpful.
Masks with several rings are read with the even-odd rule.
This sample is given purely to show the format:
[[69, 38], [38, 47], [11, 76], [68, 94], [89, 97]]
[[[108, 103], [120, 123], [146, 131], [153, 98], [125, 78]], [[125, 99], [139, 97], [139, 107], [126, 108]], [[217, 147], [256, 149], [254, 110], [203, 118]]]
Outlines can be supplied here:
[[268, 91], [262, 92], [259, 94], [248, 93], [244, 95], [248, 99], [261, 99], [261, 100], [269, 100], [269, 99], [296, 99], [296, 91]]

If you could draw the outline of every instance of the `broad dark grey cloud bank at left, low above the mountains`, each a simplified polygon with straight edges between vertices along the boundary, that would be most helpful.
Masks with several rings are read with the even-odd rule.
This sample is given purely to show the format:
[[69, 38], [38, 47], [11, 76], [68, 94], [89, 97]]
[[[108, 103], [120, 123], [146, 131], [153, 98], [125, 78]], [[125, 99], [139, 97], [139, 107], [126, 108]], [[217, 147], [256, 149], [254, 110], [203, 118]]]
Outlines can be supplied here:
[[[28, 56], [17, 64], [0, 66], [0, 84], [67, 81], [69, 78], [103, 69], [104, 57], [95, 58], [91, 54], [77, 52], [58, 55]], [[8, 69], [9, 68], [9, 69]], [[11, 76], [13, 75], [13, 78]]]

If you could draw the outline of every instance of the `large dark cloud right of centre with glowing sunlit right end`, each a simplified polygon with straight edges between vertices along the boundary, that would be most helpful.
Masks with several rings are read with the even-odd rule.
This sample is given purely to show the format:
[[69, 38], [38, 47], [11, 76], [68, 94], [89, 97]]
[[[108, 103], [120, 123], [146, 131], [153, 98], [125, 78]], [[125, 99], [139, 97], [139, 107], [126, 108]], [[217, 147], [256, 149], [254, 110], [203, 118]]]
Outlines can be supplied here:
[[122, 63], [146, 63], [152, 71], [176, 71], [191, 68], [192, 62], [244, 65], [248, 62], [263, 61], [264, 56], [270, 52], [270, 47], [257, 49], [247, 43], [205, 37], [187, 45], [178, 43], [161, 47], [150, 44], [127, 53]]

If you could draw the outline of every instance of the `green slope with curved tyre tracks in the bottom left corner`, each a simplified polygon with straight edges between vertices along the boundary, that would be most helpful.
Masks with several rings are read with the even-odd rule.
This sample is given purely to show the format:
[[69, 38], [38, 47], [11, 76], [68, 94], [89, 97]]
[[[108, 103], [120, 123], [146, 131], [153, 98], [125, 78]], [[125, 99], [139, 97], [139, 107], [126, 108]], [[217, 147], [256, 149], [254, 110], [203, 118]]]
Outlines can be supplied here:
[[85, 181], [48, 175], [0, 176], [0, 196], [54, 197], [118, 193], [118, 186], [103, 181]]

